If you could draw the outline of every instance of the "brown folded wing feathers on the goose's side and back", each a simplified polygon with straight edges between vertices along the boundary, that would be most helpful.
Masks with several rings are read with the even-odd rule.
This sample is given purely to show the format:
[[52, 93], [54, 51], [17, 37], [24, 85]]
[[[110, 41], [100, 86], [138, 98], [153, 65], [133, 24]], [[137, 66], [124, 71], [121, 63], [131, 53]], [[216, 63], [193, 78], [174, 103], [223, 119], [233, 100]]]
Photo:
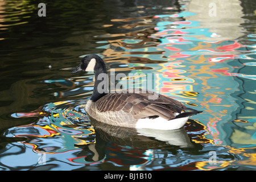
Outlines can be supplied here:
[[181, 113], [187, 109], [181, 102], [172, 98], [158, 95], [155, 100], [150, 100], [148, 96], [153, 93], [109, 93], [95, 102], [96, 108], [100, 112], [125, 111], [134, 118], [146, 118], [160, 116], [165, 119], [175, 118], [174, 113]]

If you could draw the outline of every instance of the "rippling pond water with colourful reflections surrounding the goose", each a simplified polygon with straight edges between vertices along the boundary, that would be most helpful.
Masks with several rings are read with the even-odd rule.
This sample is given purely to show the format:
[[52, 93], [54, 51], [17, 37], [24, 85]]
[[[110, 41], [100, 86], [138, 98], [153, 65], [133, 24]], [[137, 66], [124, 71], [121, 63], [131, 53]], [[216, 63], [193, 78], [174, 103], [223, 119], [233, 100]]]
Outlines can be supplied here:
[[[255, 1], [0, 2], [1, 170], [255, 170]], [[102, 126], [84, 111], [96, 53], [121, 82], [193, 109], [184, 129]]]

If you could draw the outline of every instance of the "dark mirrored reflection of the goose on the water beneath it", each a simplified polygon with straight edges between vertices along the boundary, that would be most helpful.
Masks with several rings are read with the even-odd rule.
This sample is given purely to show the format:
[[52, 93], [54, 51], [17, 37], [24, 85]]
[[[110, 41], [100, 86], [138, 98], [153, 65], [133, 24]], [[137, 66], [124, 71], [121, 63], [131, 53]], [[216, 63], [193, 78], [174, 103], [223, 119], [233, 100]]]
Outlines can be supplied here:
[[[96, 142], [84, 146], [76, 145], [77, 147], [83, 148], [84, 152], [89, 152], [85, 157], [85, 161], [87, 162], [105, 160], [106, 155], [108, 155], [107, 153], [111, 152], [107, 150], [108, 143], [111, 142], [113, 142], [114, 145], [121, 146], [121, 148], [130, 147], [129, 149], [136, 148], [137, 150], [145, 152], [147, 150], [158, 149], [176, 151], [177, 148], [191, 149], [196, 146], [196, 148], [198, 148], [198, 144], [191, 142], [184, 128], [177, 130], [134, 129], [108, 125], [93, 118], [90, 118], [90, 121], [96, 133]], [[117, 153], [121, 148], [118, 147], [117, 151], [115, 151], [114, 147], [112, 147], [110, 150]], [[142, 163], [147, 162], [148, 160], [144, 160]]]

